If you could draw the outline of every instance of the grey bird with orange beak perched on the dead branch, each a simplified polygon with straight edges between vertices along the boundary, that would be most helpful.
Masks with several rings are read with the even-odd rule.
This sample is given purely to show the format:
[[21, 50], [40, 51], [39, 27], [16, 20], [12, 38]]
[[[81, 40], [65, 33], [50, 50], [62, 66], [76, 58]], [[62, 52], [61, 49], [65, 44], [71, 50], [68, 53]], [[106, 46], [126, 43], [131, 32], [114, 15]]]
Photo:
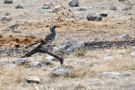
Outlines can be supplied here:
[[50, 27], [50, 34], [48, 34], [46, 37], [45, 37], [45, 39], [42, 39], [41, 41], [39, 41], [39, 42], [35, 42], [35, 43], [33, 43], [33, 44], [30, 44], [30, 45], [28, 45], [28, 46], [26, 46], [25, 48], [28, 48], [28, 47], [30, 47], [30, 46], [33, 46], [33, 45], [35, 45], [35, 44], [38, 44], [38, 43], [41, 43], [42, 42], [42, 45], [46, 45], [46, 46], [49, 46], [51, 43], [52, 43], [52, 41], [55, 39], [55, 37], [56, 37], [56, 31], [55, 31], [55, 29], [56, 28], [59, 28], [60, 26], [58, 25], [58, 24], [54, 24], [54, 25], [52, 25], [51, 27]]

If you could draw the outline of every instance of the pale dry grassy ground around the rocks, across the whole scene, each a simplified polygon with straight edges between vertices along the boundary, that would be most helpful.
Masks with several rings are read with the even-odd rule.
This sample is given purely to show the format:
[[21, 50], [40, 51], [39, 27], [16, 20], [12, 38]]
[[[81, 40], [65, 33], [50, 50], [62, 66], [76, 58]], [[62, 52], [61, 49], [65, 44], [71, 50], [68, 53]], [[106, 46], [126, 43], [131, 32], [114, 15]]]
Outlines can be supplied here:
[[[57, 29], [57, 37], [53, 44], [59, 44], [67, 40], [75, 39], [79, 42], [87, 42], [91, 40], [118, 40], [122, 34], [128, 33], [133, 39], [135, 37], [135, 6], [128, 11], [121, 11], [127, 6], [118, 0], [80, 0], [80, 7], [85, 6], [86, 11], [78, 11], [77, 8], [71, 8], [67, 4], [68, 0], [14, 0], [13, 4], [5, 5], [0, 1], [0, 18], [6, 12], [11, 13], [13, 22], [19, 24], [19, 27], [13, 32], [7, 29], [10, 22], [0, 22], [0, 33], [6, 37], [12, 35], [19, 39], [26, 36], [34, 36], [37, 39], [44, 38], [49, 33], [49, 26], [59, 24], [61, 28]], [[134, 0], [130, 0], [133, 2]], [[77, 20], [69, 19], [57, 21], [58, 15], [52, 12], [46, 12], [41, 7], [45, 3], [53, 2], [60, 5], [61, 2], [66, 8], [72, 10]], [[134, 2], [135, 3], [135, 2]], [[15, 9], [15, 6], [20, 4], [24, 9]], [[116, 5], [117, 11], [110, 11], [110, 5]], [[92, 7], [92, 8], [91, 8]], [[105, 7], [105, 9], [101, 9]], [[108, 17], [103, 18], [101, 22], [87, 21], [88, 13], [108, 12]], [[132, 13], [127, 15], [127, 13]], [[78, 19], [84, 17], [84, 19]], [[132, 20], [129, 18], [133, 17]], [[9, 38], [6, 39], [7, 41]], [[30, 39], [33, 40], [33, 39]], [[15, 42], [15, 44], [28, 44]], [[32, 43], [32, 42], [29, 42]], [[3, 44], [5, 45], [5, 44]], [[10, 46], [10, 45], [9, 45]], [[13, 46], [13, 44], [11, 45]], [[135, 58], [130, 56], [131, 47], [127, 49], [111, 48], [114, 51], [113, 59], [103, 63], [101, 59], [105, 57], [106, 49], [87, 51], [85, 56], [77, 57], [71, 55], [65, 58], [66, 65], [73, 65], [79, 68], [79, 72], [74, 72], [74, 78], [49, 78], [48, 74], [52, 70], [50, 66], [43, 66], [42, 69], [24, 68], [5, 68], [0, 67], [0, 88], [1, 90], [134, 90], [135, 87]], [[46, 55], [36, 56], [34, 60]], [[84, 65], [78, 65], [77, 60], [88, 59]], [[1, 60], [13, 60], [11, 57], [4, 57]], [[66, 62], [74, 60], [74, 62]], [[56, 62], [55, 66], [59, 66]], [[102, 72], [118, 71], [133, 74], [127, 76], [102, 75]], [[35, 75], [42, 78], [42, 84], [28, 84], [25, 78], [28, 75]]]

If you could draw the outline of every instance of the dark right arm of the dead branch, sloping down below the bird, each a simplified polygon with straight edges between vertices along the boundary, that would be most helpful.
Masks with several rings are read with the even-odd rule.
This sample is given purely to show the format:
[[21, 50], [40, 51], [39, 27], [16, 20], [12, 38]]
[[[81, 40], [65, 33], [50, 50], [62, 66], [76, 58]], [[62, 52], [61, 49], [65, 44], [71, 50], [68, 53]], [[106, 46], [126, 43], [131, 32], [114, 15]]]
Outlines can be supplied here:
[[48, 51], [47, 49], [45, 49], [45, 48], [39, 48], [39, 50], [40, 50], [41, 53], [47, 53], [47, 54], [49, 54], [49, 55], [51, 55], [51, 56], [57, 58], [57, 59], [60, 61], [60, 64], [61, 64], [61, 65], [63, 64], [64, 59], [61, 58], [61, 57], [59, 57], [58, 55], [49, 52], [49, 51]]

